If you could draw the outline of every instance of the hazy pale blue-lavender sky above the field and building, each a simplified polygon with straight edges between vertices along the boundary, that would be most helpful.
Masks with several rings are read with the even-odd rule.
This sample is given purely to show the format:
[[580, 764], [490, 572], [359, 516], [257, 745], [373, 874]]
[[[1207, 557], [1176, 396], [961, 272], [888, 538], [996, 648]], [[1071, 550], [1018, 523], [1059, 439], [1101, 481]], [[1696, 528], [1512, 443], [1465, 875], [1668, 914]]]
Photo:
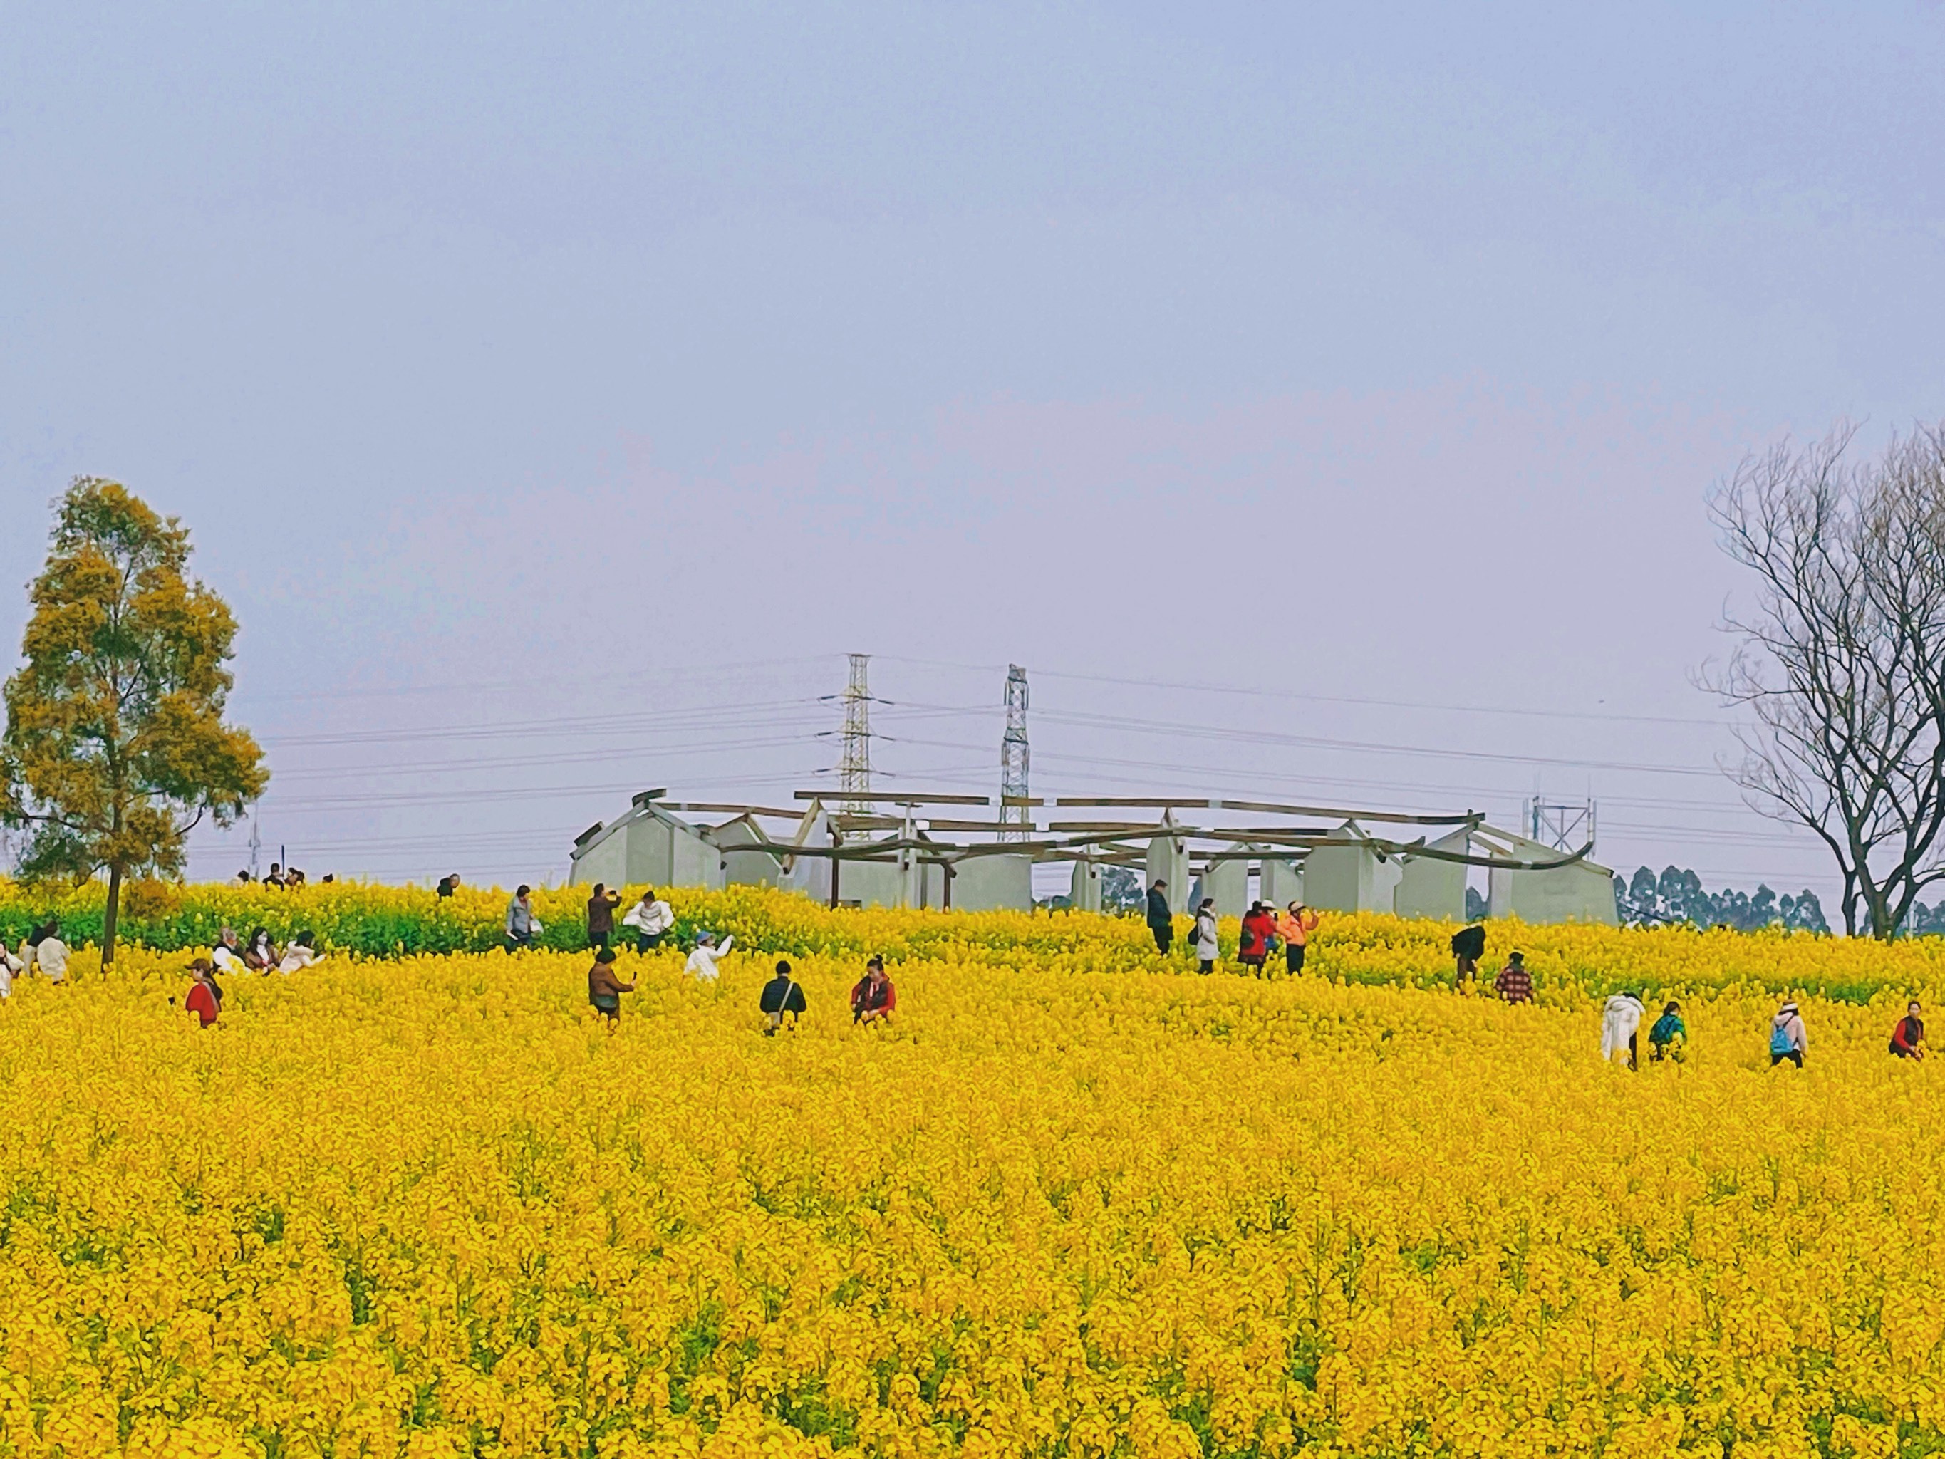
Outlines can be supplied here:
[[862, 650], [901, 786], [1019, 661], [1037, 790], [1826, 887], [1702, 502], [1945, 416], [1945, 10], [1354, 12], [0, 4], [0, 580], [179, 514], [313, 875], [823, 784]]

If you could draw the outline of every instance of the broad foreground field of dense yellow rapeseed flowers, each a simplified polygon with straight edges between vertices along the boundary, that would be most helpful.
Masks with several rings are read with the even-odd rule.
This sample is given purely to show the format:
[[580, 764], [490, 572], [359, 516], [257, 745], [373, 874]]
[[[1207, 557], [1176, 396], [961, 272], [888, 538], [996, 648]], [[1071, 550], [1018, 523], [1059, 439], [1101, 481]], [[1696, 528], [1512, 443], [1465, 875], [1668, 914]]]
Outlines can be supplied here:
[[1628, 1074], [1572, 965], [1628, 934], [1544, 934], [1529, 1008], [1330, 977], [1435, 973], [1400, 926], [1266, 982], [941, 942], [883, 1031], [811, 953], [774, 1039], [741, 949], [622, 955], [615, 1033], [584, 953], [237, 977], [208, 1031], [187, 955], [80, 953], [0, 1004], [0, 1455], [1945, 1449], [1898, 977], [1772, 1072], [1688, 936], [1665, 984], [1727, 986]]

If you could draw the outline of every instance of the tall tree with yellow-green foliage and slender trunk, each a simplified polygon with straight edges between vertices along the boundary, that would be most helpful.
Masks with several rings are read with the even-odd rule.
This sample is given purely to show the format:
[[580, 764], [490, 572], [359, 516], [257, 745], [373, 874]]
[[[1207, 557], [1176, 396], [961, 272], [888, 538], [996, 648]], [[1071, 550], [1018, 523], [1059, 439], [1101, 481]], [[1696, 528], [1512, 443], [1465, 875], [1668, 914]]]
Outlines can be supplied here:
[[103, 969], [123, 879], [179, 875], [191, 827], [231, 825], [270, 780], [249, 731], [224, 724], [235, 619], [187, 566], [175, 517], [78, 477], [6, 681], [0, 821], [25, 833], [23, 877], [107, 872]]

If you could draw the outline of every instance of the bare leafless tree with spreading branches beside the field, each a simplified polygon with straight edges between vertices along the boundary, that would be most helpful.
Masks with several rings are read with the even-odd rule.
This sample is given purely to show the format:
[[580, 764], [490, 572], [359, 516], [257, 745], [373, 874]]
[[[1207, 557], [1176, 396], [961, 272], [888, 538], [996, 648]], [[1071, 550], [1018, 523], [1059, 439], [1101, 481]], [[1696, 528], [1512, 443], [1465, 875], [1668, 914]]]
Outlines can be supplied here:
[[1710, 494], [1756, 603], [1702, 683], [1752, 716], [1729, 770], [1750, 805], [1836, 858], [1844, 930], [1894, 938], [1945, 881], [1945, 426], [1867, 463], [1854, 438], [1776, 445]]

